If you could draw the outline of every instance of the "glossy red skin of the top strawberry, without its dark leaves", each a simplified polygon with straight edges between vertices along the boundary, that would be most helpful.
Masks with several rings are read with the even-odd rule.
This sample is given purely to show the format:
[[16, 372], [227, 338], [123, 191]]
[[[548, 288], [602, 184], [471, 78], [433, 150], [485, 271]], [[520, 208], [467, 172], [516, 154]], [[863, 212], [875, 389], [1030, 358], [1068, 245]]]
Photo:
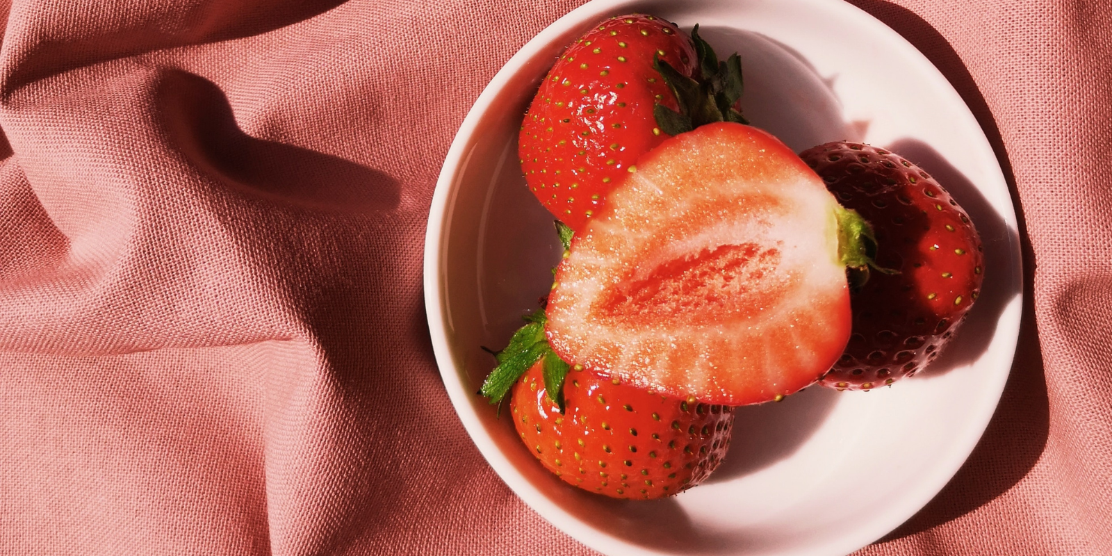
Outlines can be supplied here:
[[639, 156], [667, 138], [654, 105], [678, 105], [654, 57], [686, 76], [695, 71], [691, 40], [676, 26], [644, 14], [610, 18], [567, 48], [525, 115], [518, 156], [526, 183], [574, 230], [598, 214]]

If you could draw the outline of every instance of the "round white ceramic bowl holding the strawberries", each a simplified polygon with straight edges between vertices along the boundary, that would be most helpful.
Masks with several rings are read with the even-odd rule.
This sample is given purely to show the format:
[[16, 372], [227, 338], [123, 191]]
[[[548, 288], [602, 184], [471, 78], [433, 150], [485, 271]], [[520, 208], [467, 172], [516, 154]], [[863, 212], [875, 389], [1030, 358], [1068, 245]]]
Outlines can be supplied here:
[[[742, 54], [743, 108], [796, 150], [838, 139], [885, 146], [934, 173], [985, 249], [984, 294], [933, 366], [893, 388], [817, 387], [742, 408], [723, 466], [656, 502], [569, 487], [475, 393], [537, 305], [559, 258], [552, 217], [526, 190], [517, 130], [570, 40], [614, 14], [648, 12]], [[437, 182], [425, 246], [429, 329], [445, 387], [490, 466], [533, 509], [607, 554], [842, 555], [923, 507], [972, 451], [1003, 390], [1019, 332], [1015, 215], [977, 122], [903, 38], [840, 0], [594, 0], [545, 29], [495, 76]]]

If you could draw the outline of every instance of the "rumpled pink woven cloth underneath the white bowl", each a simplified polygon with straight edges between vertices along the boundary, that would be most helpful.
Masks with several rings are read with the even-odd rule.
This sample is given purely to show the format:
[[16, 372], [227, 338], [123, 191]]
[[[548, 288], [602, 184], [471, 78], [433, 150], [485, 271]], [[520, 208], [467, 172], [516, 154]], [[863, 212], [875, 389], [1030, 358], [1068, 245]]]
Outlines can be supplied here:
[[[860, 554], [1112, 554], [1112, 10], [853, 1], [980, 119], [1026, 265], [987, 433]], [[0, 553], [592, 554], [479, 456], [421, 300], [456, 129], [577, 3], [0, 6]]]

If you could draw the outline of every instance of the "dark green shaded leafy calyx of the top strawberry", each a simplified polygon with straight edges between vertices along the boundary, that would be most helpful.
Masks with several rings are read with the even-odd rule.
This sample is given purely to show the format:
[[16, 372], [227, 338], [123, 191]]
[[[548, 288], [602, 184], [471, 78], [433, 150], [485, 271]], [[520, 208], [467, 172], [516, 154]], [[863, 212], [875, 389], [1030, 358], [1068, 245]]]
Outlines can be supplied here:
[[676, 136], [716, 121], [748, 123], [742, 112], [734, 108], [744, 89], [742, 59], [735, 52], [719, 61], [711, 44], [698, 36], [698, 26], [692, 29], [692, 41], [698, 56], [694, 79], [659, 58], [653, 59], [653, 68], [664, 78], [679, 105], [677, 112], [657, 102], [653, 107], [656, 125], [665, 133]]

